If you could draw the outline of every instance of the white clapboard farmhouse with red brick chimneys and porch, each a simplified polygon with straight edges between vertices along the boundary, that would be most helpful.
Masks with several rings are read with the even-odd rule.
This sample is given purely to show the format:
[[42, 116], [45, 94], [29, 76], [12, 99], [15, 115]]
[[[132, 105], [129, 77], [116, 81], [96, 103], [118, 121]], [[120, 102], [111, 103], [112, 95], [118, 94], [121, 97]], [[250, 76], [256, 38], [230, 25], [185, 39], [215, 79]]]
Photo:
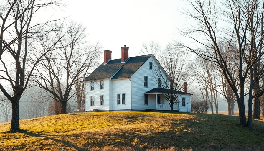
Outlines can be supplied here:
[[[104, 50], [104, 62], [85, 78], [85, 111], [143, 111], [170, 110], [164, 90], [159, 88], [154, 66], [166, 75], [153, 54], [128, 57], [128, 47], [121, 47], [121, 59], [111, 60], [111, 52]], [[191, 95], [187, 83], [174, 111], [190, 112]]]

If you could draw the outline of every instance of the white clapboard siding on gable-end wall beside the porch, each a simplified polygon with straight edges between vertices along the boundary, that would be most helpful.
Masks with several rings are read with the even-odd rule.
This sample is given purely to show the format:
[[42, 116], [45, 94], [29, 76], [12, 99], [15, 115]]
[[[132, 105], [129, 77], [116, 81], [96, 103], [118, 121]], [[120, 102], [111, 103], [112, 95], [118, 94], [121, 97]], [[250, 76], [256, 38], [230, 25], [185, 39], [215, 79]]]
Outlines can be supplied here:
[[[149, 62], [153, 63], [152, 70], [149, 69]], [[144, 110], [144, 109], [155, 109], [156, 102], [149, 102], [149, 105], [144, 105], [144, 93], [157, 88], [157, 76], [155, 67], [157, 63], [153, 55], [133, 74], [132, 80], [132, 109], [133, 110]], [[148, 87], [144, 87], [144, 76], [148, 77]], [[154, 104], [155, 103], [155, 104]]]

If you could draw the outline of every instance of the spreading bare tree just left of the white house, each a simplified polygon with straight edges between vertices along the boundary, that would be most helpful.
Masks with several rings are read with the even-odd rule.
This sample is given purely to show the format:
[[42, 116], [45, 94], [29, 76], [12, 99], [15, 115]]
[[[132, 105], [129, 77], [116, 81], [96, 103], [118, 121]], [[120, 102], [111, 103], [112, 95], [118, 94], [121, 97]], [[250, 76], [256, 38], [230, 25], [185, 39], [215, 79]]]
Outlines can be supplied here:
[[[93, 46], [84, 46], [86, 34], [81, 24], [70, 22], [64, 31], [56, 31], [54, 35], [65, 35], [57, 44], [58, 49], [44, 55], [36, 68], [34, 81], [49, 92], [55, 101], [62, 106], [62, 114], [67, 113], [67, 101], [72, 98], [75, 84], [84, 79], [90, 68], [97, 65], [100, 51], [99, 43]], [[46, 35], [51, 37], [50, 35]], [[53, 47], [52, 41], [42, 38], [40, 41], [43, 49]]]

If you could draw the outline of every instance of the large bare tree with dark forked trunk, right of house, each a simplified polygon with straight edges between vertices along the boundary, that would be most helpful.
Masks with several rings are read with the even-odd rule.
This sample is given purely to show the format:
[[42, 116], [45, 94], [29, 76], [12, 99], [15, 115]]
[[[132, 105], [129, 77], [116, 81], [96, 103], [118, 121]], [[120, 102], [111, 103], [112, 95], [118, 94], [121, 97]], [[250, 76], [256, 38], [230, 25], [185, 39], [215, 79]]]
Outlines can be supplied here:
[[[253, 12], [257, 11], [260, 12], [260, 14], [263, 14], [263, 9], [261, 9], [263, 8], [263, 5], [261, 8], [257, 7], [258, 4], [263, 4], [263, 1], [228, 0], [221, 2], [221, 6], [219, 6], [217, 5], [217, 2], [211, 0], [206, 2], [195, 0], [189, 1], [189, 4], [194, 8], [194, 11], [188, 9], [184, 14], [187, 14], [190, 18], [194, 19], [195, 23], [189, 26], [190, 28], [182, 31], [182, 35], [196, 41], [200, 44], [200, 47], [194, 48], [182, 44], [181, 42], [178, 42], [178, 45], [197, 54], [204, 60], [214, 63], [217, 68], [222, 71], [228, 85], [235, 93], [239, 109], [240, 124], [252, 127], [253, 86], [261, 75], [263, 75], [263, 72], [259, 72], [258, 76], [253, 78], [253, 65], [261, 60], [263, 52], [260, 49], [248, 49], [253, 40], [250, 34], [252, 31], [250, 31], [249, 28], [250, 19], [254, 16]], [[245, 10], [251, 11], [248, 12]], [[217, 27], [219, 18], [226, 21], [225, 28]], [[261, 27], [263, 26], [261, 20], [254, 20], [254, 22]], [[256, 29], [254, 29], [254, 31], [260, 33], [260, 31]], [[230, 41], [227, 40], [227, 37], [230, 37]], [[238, 73], [239, 88], [237, 88], [237, 81], [235, 81], [235, 77], [232, 76], [231, 71], [227, 66], [228, 58], [226, 53], [223, 53], [223, 50], [219, 47], [221, 39], [227, 41], [229, 47], [236, 46], [238, 48], [236, 51], [236, 58], [238, 59], [236, 72]], [[263, 34], [261, 32], [259, 34], [258, 42], [256, 42], [256, 48], [260, 48], [262, 41]], [[248, 76], [250, 77], [250, 85], [248, 93], [245, 93], [245, 82]], [[248, 94], [249, 96], [248, 122], [246, 122], [245, 116], [245, 94]]]

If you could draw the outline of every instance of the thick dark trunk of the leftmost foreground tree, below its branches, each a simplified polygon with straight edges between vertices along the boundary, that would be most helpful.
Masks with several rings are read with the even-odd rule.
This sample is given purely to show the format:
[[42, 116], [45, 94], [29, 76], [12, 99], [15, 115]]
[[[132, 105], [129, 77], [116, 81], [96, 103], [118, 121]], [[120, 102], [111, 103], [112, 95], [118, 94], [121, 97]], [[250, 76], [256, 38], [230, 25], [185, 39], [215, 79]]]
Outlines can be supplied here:
[[20, 130], [19, 128], [19, 99], [16, 99], [12, 103], [12, 119], [10, 131]]

